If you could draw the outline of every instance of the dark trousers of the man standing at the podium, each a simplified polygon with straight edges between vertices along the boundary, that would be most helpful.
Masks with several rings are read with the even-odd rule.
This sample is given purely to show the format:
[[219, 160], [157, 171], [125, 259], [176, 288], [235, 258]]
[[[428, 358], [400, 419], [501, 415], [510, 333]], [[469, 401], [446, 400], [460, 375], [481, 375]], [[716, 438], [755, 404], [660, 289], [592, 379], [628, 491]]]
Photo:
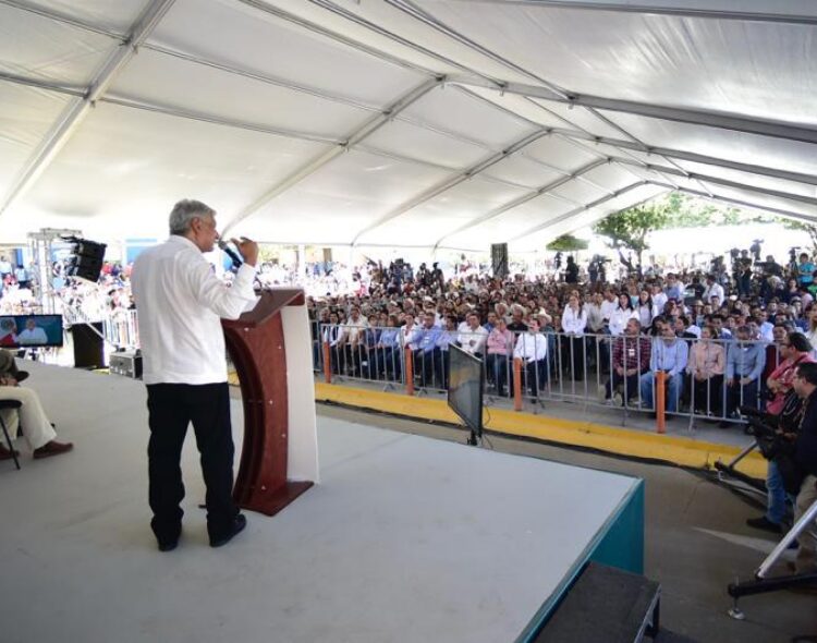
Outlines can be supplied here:
[[148, 500], [154, 511], [150, 526], [157, 539], [175, 539], [181, 530], [184, 514], [179, 506], [184, 498], [181, 456], [191, 422], [207, 487], [207, 531], [211, 538], [222, 536], [239, 513], [232, 498], [235, 448], [227, 383], [148, 385], [147, 408]]

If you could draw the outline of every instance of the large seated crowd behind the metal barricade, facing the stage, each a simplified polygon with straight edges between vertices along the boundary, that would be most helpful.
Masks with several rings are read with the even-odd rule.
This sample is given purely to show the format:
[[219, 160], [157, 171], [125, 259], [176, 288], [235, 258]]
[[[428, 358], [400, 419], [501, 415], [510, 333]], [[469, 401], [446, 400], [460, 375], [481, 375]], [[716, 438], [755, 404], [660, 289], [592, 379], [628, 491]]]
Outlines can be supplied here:
[[571, 257], [563, 275], [533, 279], [371, 265], [362, 291], [309, 298], [316, 368], [326, 344], [333, 373], [399, 381], [408, 348], [417, 384], [444, 389], [453, 343], [485, 359], [497, 395], [511, 392], [521, 357], [533, 396], [595, 378], [610, 400], [637, 398], [646, 410], [663, 373], [668, 412], [683, 408], [727, 427], [741, 405], [779, 402], [791, 387], [782, 375], [810, 360], [817, 340], [809, 256], [784, 269], [747, 254], [733, 257], [731, 274], [716, 260], [710, 271], [651, 268], [614, 283], [583, 279], [590, 272]]

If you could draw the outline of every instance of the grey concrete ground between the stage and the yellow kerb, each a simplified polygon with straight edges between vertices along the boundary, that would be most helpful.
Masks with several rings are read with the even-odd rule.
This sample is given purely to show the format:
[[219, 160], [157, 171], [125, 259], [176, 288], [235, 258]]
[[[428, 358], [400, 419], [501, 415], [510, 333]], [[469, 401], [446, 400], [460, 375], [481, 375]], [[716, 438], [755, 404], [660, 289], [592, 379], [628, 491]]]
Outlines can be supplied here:
[[[328, 404], [318, 414], [370, 426], [464, 441], [450, 426], [390, 417]], [[661, 641], [783, 643], [817, 635], [817, 595], [777, 592], [741, 600], [746, 620], [727, 615], [727, 585], [749, 580], [775, 537], [745, 524], [756, 507], [703, 474], [519, 439], [489, 436], [486, 448], [636, 475], [646, 481], [646, 575], [662, 585]], [[781, 569], [781, 573], [783, 570]]]

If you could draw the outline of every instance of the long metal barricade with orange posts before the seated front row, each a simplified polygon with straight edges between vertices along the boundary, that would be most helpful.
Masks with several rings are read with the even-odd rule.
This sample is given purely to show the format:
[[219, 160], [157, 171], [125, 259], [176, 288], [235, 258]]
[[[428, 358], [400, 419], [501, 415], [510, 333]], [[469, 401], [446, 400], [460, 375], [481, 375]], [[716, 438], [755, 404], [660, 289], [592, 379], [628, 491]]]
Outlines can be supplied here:
[[[448, 343], [456, 342], [483, 359], [488, 404], [505, 401], [534, 411], [546, 402], [607, 408], [621, 412], [622, 423], [633, 412], [646, 412], [656, 416], [658, 430], [670, 416], [686, 417], [690, 430], [696, 421], [743, 422], [740, 407], [763, 405], [763, 377], [727, 381], [729, 352], [767, 351], [770, 345], [545, 329], [509, 333], [503, 347], [485, 330], [419, 326], [405, 335], [393, 327], [321, 325], [320, 337], [329, 379], [377, 383], [410, 395], [439, 393], [448, 387]], [[672, 351], [678, 353], [674, 361], [668, 357]], [[706, 363], [698, 368], [702, 357]]]

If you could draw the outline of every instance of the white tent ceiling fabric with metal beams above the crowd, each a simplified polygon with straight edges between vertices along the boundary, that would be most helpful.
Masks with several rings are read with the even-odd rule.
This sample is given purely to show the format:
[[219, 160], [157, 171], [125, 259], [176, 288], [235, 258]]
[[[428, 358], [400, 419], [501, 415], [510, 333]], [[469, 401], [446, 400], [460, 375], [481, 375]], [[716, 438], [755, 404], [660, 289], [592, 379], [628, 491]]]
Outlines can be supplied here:
[[808, 0], [0, 0], [0, 242], [514, 251], [669, 190], [817, 221]]

